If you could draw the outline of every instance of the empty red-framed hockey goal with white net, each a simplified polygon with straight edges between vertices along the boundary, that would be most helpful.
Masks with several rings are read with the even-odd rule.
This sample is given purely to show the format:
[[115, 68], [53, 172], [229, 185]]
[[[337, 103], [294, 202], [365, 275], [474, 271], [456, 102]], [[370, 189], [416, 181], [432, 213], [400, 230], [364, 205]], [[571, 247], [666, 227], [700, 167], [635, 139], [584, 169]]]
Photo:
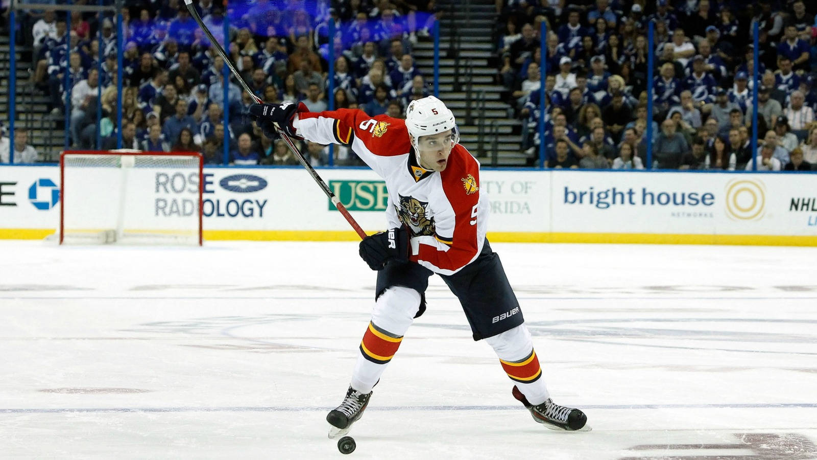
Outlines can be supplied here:
[[202, 156], [64, 151], [60, 244], [202, 244]]

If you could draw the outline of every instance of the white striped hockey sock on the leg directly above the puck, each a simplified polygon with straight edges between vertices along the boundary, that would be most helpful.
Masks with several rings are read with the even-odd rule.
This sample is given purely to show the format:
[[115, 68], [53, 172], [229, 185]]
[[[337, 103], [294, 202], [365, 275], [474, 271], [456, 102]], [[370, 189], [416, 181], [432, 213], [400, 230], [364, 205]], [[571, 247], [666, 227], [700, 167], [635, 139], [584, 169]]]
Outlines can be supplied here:
[[372, 322], [360, 341], [360, 354], [352, 372], [352, 388], [368, 393], [380, 380], [414, 321], [420, 300], [419, 292], [402, 286], [390, 287], [377, 298]]

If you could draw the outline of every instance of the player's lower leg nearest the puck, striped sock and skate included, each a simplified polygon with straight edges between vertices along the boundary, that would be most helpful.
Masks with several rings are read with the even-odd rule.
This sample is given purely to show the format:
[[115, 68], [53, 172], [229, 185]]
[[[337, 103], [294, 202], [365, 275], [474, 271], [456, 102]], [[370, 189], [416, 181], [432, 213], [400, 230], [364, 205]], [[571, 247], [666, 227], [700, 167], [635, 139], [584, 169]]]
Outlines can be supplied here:
[[329, 431], [330, 438], [345, 435], [363, 416], [373, 387], [397, 353], [421, 302], [419, 292], [404, 286], [391, 286], [377, 297], [372, 320], [360, 341], [360, 354], [346, 398], [326, 416], [326, 421], [333, 426]]

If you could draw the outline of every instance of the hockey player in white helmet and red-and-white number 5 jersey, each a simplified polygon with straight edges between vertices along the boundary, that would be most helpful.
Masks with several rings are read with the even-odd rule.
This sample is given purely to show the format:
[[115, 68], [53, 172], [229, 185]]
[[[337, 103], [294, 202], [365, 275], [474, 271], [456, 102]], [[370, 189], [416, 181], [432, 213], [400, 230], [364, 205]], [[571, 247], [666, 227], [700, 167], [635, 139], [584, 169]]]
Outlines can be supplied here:
[[493, 347], [516, 382], [512, 395], [534, 420], [555, 430], [585, 427], [581, 410], [551, 401], [516, 295], [485, 238], [489, 204], [480, 193], [480, 163], [458, 144], [453, 113], [442, 101], [412, 101], [406, 120], [363, 110], [312, 113], [290, 103], [254, 104], [249, 113], [269, 137], [278, 124], [293, 138], [350, 147], [386, 181], [389, 230], [359, 245], [360, 257], [377, 270], [372, 319], [346, 398], [326, 417], [330, 437], [346, 434], [363, 414], [408, 327], [426, 310], [433, 273], [457, 295], [474, 340]]

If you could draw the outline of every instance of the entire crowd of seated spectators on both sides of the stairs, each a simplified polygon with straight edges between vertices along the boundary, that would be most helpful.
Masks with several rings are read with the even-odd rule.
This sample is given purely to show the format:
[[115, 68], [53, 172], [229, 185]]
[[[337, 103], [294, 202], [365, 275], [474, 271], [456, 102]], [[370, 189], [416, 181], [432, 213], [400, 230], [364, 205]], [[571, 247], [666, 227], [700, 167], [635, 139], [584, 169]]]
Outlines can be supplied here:
[[[429, 94], [412, 48], [442, 15], [434, 0], [259, 0], [230, 2], [228, 11], [199, 0], [195, 7], [222, 43], [227, 22], [230, 60], [264, 101], [303, 102], [314, 111], [327, 110], [331, 101], [335, 108], [400, 117], [409, 101]], [[524, 121], [522, 149], [530, 164], [544, 142], [547, 166], [554, 168], [751, 169], [753, 157], [759, 169], [817, 167], [815, 2], [497, 0], [497, 11], [498, 79]], [[115, 148], [121, 130], [126, 148], [201, 151], [217, 164], [224, 161], [226, 142], [233, 164], [297, 163], [282, 142], [269, 142], [243, 116], [252, 97], [225, 73], [224, 61], [181, 0], [128, 2], [123, 11], [121, 128], [113, 18], [44, 11], [32, 22], [33, 81], [49, 95], [55, 119], [63, 118], [68, 102], [73, 147], [96, 148], [100, 136], [101, 148]], [[543, 55], [542, 22], [548, 30]], [[336, 30], [332, 43], [330, 23]], [[646, 104], [650, 23], [652, 120]], [[761, 77], [753, 152], [755, 23]], [[540, 114], [542, 58], [547, 75]], [[30, 149], [28, 133], [18, 132], [19, 148]], [[17, 141], [15, 149], [16, 159], [23, 158]], [[305, 143], [302, 151], [313, 165], [328, 163], [326, 146]], [[335, 164], [359, 164], [347, 148], [332, 151]]]

